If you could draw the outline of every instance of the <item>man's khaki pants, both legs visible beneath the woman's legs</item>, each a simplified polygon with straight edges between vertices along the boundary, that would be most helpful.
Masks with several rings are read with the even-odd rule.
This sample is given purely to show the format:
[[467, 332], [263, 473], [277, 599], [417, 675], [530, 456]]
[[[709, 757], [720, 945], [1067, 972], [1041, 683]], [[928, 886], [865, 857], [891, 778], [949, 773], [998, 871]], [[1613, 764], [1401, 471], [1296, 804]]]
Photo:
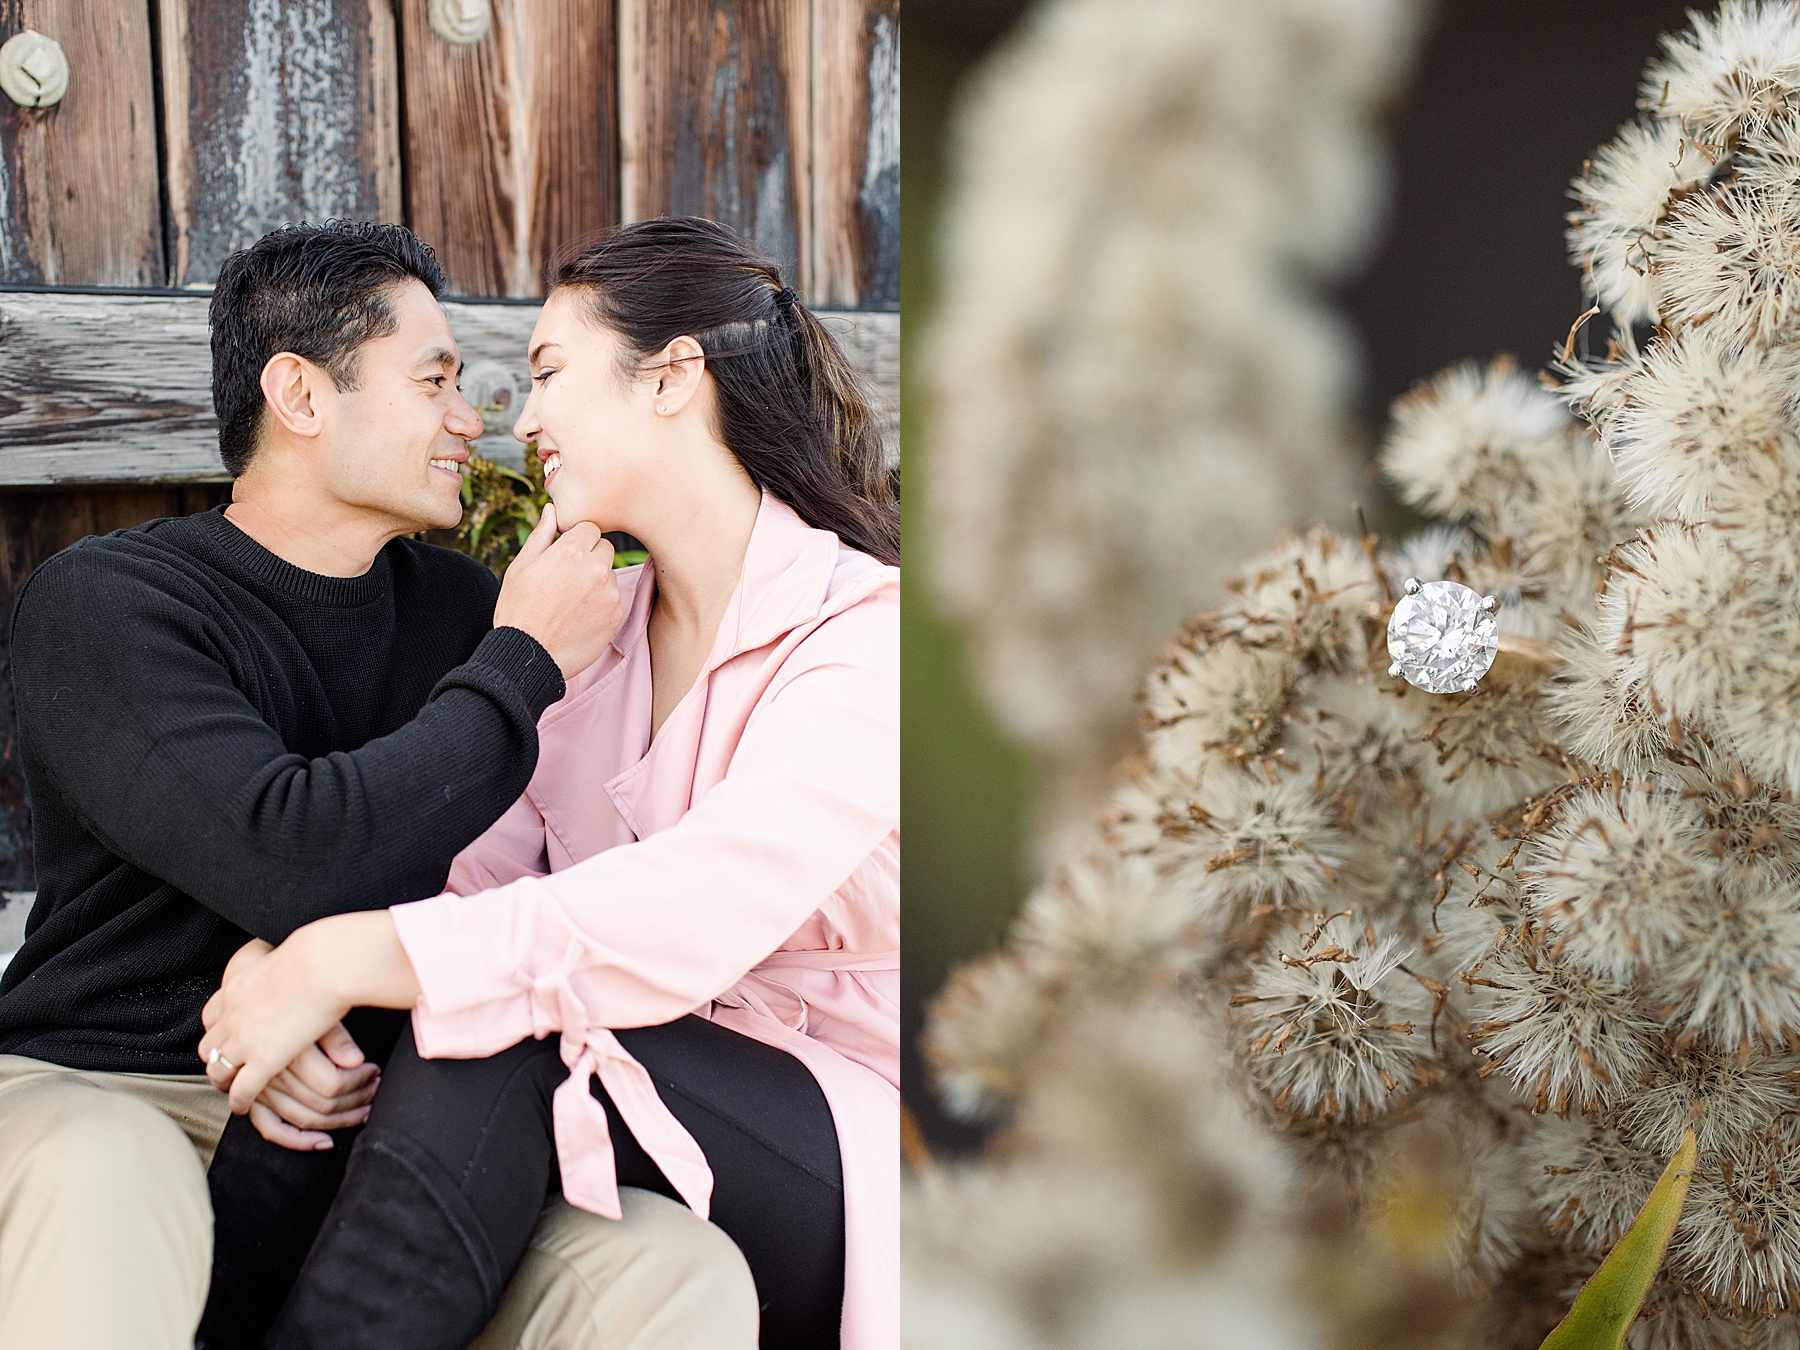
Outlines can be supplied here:
[[[193, 1350], [212, 1269], [205, 1168], [227, 1102], [203, 1076], [0, 1055], [0, 1346]], [[751, 1350], [743, 1255], [686, 1206], [545, 1206], [472, 1350]]]

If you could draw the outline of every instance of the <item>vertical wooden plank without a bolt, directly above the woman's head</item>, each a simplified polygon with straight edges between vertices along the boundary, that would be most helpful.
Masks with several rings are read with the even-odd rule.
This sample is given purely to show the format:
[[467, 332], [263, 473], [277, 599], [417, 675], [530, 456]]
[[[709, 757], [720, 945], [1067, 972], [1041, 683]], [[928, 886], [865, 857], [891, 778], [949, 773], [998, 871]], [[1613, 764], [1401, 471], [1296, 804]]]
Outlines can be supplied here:
[[625, 220], [709, 216], [806, 292], [810, 0], [619, 0]]

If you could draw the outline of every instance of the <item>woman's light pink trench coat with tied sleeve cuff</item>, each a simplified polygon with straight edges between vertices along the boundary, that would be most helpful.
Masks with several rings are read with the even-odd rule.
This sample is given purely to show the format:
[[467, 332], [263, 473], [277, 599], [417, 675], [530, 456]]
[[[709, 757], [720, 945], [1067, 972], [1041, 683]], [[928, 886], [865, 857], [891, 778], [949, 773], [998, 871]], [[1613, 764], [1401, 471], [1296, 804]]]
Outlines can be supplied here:
[[421, 1055], [562, 1033], [556, 1152], [617, 1217], [599, 1075], [698, 1213], [713, 1175], [607, 1028], [698, 1013], [799, 1058], [837, 1121], [844, 1350], [900, 1341], [900, 572], [763, 495], [700, 679], [650, 740], [650, 565], [540, 720], [526, 796], [455, 895], [394, 907]]

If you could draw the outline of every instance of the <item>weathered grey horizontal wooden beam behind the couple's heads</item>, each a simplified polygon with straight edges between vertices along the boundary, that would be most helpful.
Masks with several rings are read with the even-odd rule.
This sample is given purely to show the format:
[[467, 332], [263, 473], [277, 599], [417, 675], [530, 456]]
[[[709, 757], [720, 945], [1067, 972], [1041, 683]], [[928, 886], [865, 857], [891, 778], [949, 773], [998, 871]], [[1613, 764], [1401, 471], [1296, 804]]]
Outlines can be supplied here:
[[[0, 486], [221, 481], [209, 301], [205, 292], [0, 290]], [[448, 301], [445, 311], [468, 365], [495, 362], [526, 387], [536, 304]], [[875, 385], [896, 457], [900, 315], [819, 317]], [[504, 432], [477, 450], [513, 464], [520, 455]]]

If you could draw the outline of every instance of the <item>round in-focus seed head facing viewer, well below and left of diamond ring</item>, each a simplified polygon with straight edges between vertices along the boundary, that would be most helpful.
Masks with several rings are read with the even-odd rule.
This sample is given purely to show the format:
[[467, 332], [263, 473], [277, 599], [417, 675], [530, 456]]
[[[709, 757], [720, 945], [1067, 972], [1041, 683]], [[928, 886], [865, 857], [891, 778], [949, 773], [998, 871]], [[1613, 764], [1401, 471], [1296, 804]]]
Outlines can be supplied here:
[[1368, 1120], [1436, 1076], [1433, 997], [1406, 958], [1399, 938], [1336, 914], [1291, 925], [1255, 963], [1231, 1022], [1276, 1116]]

